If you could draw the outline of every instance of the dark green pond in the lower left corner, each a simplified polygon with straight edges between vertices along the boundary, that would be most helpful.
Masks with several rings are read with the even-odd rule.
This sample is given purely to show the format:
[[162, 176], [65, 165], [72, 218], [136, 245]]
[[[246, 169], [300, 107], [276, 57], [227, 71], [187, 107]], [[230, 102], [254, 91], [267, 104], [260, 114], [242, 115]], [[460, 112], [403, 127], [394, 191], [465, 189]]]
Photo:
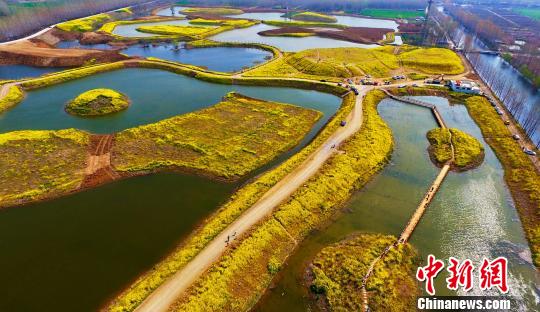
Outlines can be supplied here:
[[157, 174], [0, 210], [0, 311], [98, 310], [235, 186]]

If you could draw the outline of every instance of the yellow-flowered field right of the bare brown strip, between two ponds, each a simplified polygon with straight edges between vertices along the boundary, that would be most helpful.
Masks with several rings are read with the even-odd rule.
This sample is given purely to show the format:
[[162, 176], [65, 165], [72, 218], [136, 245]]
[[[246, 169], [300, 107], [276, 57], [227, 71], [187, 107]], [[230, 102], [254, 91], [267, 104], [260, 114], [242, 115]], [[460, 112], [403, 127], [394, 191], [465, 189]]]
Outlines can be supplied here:
[[215, 106], [118, 133], [113, 164], [120, 171], [179, 167], [237, 178], [298, 144], [320, 117], [229, 93]]

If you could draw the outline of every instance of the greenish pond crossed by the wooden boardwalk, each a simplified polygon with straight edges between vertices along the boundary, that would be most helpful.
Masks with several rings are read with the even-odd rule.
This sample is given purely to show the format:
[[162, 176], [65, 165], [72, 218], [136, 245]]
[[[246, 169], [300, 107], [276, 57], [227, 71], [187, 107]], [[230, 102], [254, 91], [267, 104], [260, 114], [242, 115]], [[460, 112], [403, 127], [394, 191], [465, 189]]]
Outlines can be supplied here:
[[[411, 243], [423, 259], [434, 254], [445, 260], [454, 256], [479, 263], [484, 256], [492, 259], [506, 256], [509, 259], [510, 295], [520, 304], [514, 310], [535, 310], [535, 285], [540, 279], [528, 262], [530, 259], [524, 260], [530, 251], [504, 184], [499, 161], [464, 106], [450, 106], [442, 98], [423, 99], [437, 105], [450, 127], [478, 138], [486, 148], [486, 158], [475, 170], [450, 173]], [[394, 134], [395, 150], [391, 163], [353, 195], [344, 207], [346, 212], [335, 222], [309, 236], [299, 246], [275, 281], [275, 287], [267, 291], [255, 311], [305, 311], [308, 307], [317, 310], [308, 299], [303, 275], [307, 264], [321, 248], [357, 231], [398, 236], [403, 230], [438, 173], [429, 160], [425, 139], [425, 133], [436, 124], [429, 110], [388, 99], [379, 105], [379, 112]], [[438, 295], [450, 294], [445, 291], [444, 278], [442, 274], [436, 281]]]

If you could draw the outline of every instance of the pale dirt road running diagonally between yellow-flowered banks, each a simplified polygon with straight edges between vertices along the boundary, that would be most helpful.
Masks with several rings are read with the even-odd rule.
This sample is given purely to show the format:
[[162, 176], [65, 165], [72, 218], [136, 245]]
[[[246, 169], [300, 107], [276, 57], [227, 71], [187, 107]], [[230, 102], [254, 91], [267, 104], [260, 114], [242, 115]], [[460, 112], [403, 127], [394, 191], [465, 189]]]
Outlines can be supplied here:
[[347, 125], [339, 128], [328, 140], [315, 150], [294, 171], [279, 181], [251, 208], [245, 211], [236, 221], [227, 227], [220, 235], [211, 241], [191, 262], [178, 271], [168, 281], [156, 289], [136, 309], [138, 312], [167, 311], [169, 306], [195, 280], [206, 271], [228, 248], [225, 241], [236, 232], [236, 237], [242, 236], [253, 225], [268, 216], [272, 210], [286, 201], [296, 189], [302, 186], [320, 167], [336, 152], [332, 145], [339, 146], [362, 126], [362, 100], [371, 88], [360, 89], [356, 105], [347, 117]]

